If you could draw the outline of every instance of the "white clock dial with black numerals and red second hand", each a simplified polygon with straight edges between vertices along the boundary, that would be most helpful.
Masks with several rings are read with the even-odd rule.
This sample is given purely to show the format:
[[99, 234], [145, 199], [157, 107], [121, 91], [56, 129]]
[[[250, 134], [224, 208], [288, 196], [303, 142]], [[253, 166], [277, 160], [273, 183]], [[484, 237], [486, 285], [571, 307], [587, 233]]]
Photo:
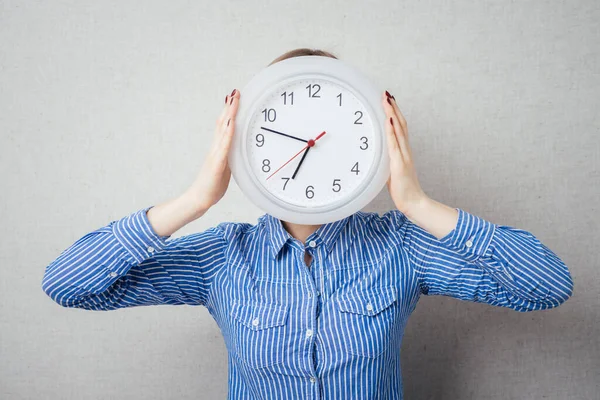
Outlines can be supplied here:
[[373, 118], [352, 91], [304, 77], [272, 87], [254, 105], [245, 146], [269, 194], [319, 208], [349, 201], [368, 183], [376, 140]]

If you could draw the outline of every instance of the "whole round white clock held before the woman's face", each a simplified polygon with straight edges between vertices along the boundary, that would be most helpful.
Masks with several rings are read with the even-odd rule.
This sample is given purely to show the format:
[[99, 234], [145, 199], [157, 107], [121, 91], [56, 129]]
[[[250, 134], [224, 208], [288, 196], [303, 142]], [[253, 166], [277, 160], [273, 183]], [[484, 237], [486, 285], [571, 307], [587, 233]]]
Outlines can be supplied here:
[[330, 57], [280, 61], [241, 92], [229, 165], [263, 211], [324, 224], [366, 206], [385, 186], [382, 91]]

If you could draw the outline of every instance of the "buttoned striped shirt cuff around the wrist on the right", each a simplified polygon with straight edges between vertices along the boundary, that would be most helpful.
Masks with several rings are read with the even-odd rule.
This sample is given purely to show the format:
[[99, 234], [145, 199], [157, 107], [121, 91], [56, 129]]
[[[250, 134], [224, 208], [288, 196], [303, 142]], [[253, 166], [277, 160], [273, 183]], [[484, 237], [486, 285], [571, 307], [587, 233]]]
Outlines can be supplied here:
[[485, 254], [496, 232], [496, 225], [476, 215], [456, 208], [456, 227], [439, 241], [459, 253], [468, 262]]

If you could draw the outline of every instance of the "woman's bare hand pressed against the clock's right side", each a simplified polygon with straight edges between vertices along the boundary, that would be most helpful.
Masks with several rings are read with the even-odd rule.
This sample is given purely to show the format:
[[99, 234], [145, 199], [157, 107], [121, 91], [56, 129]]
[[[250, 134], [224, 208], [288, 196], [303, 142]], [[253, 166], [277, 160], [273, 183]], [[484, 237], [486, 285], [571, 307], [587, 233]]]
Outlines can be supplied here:
[[386, 114], [385, 131], [390, 155], [390, 177], [387, 187], [396, 208], [405, 215], [419, 208], [428, 197], [421, 189], [408, 143], [406, 120], [396, 99], [387, 91], [382, 98]]

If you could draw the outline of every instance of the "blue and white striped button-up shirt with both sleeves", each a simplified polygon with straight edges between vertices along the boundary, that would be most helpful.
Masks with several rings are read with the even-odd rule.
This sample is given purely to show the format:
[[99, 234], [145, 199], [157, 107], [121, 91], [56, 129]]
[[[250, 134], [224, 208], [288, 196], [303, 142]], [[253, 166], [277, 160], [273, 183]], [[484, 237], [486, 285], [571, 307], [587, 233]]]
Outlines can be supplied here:
[[228, 399], [402, 399], [400, 345], [421, 295], [524, 312], [573, 291], [531, 233], [459, 208], [439, 240], [393, 210], [322, 225], [306, 243], [269, 214], [158, 236], [149, 208], [77, 240], [47, 266], [43, 290], [88, 310], [205, 306], [228, 350]]

